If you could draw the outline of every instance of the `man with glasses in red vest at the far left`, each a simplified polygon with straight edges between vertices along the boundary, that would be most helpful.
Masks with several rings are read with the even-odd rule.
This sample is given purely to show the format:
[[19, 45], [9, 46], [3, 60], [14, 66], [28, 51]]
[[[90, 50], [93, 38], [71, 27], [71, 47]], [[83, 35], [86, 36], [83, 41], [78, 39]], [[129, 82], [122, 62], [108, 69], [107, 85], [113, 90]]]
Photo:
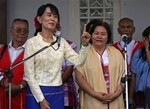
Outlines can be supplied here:
[[[14, 19], [11, 26], [12, 40], [7, 45], [0, 60], [0, 109], [25, 109], [26, 86], [23, 63], [11, 70], [13, 77], [6, 75], [6, 70], [24, 57], [25, 42], [28, 38], [29, 24], [26, 19]], [[3, 47], [0, 48], [0, 53]], [[11, 80], [11, 82], [10, 82]], [[11, 103], [9, 88], [11, 83]]]

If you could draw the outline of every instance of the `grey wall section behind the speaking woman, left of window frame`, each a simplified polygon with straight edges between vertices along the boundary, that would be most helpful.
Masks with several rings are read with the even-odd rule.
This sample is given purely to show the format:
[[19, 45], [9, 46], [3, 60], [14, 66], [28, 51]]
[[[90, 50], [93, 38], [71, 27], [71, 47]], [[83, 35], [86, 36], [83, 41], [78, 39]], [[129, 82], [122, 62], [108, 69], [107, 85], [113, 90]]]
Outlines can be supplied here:
[[68, 0], [7, 0], [7, 33], [8, 42], [11, 39], [9, 28], [14, 18], [25, 18], [29, 21], [29, 36], [35, 32], [34, 17], [39, 6], [52, 3], [57, 6], [60, 13], [60, 23], [63, 37], [68, 38], [69, 33], [69, 2]]

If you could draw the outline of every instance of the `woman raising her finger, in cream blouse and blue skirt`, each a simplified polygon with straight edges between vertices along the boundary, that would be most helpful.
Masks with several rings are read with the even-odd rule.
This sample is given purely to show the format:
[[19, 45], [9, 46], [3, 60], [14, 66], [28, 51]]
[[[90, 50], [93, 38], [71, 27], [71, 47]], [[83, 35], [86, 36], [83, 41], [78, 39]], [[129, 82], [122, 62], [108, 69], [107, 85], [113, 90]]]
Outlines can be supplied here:
[[86, 31], [83, 32], [83, 46], [80, 54], [77, 54], [64, 38], [61, 38], [58, 48], [57, 37], [54, 33], [57, 30], [57, 24], [60, 23], [60, 18], [56, 6], [50, 3], [40, 6], [34, 20], [36, 21], [35, 36], [27, 40], [24, 58], [43, 47], [48, 48], [24, 63], [25, 79], [29, 85], [26, 108], [64, 109], [61, 78], [63, 60], [67, 59], [75, 66], [83, 65], [90, 47], [90, 35]]

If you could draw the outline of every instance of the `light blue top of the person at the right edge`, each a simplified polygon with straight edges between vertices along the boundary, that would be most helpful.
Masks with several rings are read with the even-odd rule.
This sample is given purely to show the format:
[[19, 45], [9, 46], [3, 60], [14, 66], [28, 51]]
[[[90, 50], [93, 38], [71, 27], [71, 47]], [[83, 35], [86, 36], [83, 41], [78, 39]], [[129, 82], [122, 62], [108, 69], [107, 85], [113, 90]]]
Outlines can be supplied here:
[[142, 57], [139, 57], [140, 52], [141, 49], [135, 52], [131, 64], [131, 70], [136, 75], [135, 92], [146, 90], [148, 76], [150, 76], [150, 67], [147, 61], [144, 61]]

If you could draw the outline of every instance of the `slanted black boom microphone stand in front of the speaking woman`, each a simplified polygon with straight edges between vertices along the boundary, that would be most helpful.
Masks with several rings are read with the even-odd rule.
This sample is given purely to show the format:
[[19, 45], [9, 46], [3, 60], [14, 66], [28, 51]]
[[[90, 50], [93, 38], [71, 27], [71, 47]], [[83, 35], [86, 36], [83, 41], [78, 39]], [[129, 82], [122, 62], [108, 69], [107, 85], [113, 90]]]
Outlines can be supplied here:
[[[56, 39], [56, 41], [52, 42], [50, 45], [45, 46], [43, 48], [41, 48], [40, 50], [38, 50], [37, 52], [35, 52], [34, 54], [32, 54], [31, 56], [21, 60], [20, 62], [16, 63], [14, 66], [10, 66], [5, 72], [4, 74], [6, 75], [6, 77], [8, 78], [8, 87], [9, 87], [9, 109], [11, 109], [11, 80], [14, 77], [14, 74], [12, 73], [12, 70], [14, 68], [16, 68], [17, 66], [19, 66], [20, 64], [24, 63], [25, 61], [27, 61], [28, 59], [32, 58], [33, 56], [39, 54], [40, 52], [42, 52], [43, 50], [52, 47], [52, 45], [54, 45], [56, 42], [58, 41], [58, 37]], [[53, 48], [54, 49], [54, 48]]]

